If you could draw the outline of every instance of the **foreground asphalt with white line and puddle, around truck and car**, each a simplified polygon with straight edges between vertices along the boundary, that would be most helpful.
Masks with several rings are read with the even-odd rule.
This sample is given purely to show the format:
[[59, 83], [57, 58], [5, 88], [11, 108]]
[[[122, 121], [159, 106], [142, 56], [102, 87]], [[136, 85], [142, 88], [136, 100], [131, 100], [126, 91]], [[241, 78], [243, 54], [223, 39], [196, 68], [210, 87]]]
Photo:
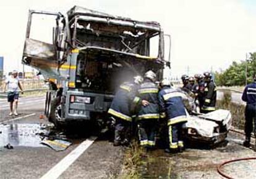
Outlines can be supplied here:
[[[8, 108], [6, 100], [0, 100], [0, 178], [115, 178], [120, 173], [123, 149], [113, 147], [108, 138], [70, 138], [72, 145], [60, 152], [40, 145], [35, 132], [40, 124], [49, 124], [39, 117], [44, 111], [44, 97], [20, 98], [17, 117], [10, 117]], [[252, 149], [242, 146], [243, 138], [229, 132], [224, 146], [192, 148], [177, 155], [158, 149], [143, 159], [140, 172], [143, 178], [221, 178], [216, 172], [221, 162], [255, 156]], [[14, 149], [3, 148], [7, 143]], [[254, 165], [245, 163], [239, 170], [236, 166], [224, 170], [231, 175], [241, 175], [242, 171], [245, 178], [256, 177], [255, 167], [250, 167]]]

